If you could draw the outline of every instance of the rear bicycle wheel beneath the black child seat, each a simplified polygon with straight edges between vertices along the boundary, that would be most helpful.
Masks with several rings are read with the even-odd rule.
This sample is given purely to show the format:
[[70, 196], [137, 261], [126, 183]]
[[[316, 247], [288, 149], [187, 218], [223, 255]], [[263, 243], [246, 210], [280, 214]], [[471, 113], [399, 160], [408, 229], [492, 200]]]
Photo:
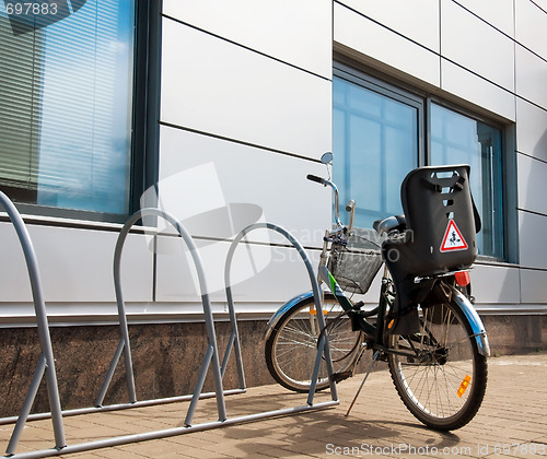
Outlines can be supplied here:
[[486, 393], [487, 358], [478, 351], [472, 327], [451, 301], [419, 309], [421, 332], [388, 337], [388, 349], [416, 355], [388, 353], [395, 388], [412, 415], [429, 427], [453, 431], [477, 413]]

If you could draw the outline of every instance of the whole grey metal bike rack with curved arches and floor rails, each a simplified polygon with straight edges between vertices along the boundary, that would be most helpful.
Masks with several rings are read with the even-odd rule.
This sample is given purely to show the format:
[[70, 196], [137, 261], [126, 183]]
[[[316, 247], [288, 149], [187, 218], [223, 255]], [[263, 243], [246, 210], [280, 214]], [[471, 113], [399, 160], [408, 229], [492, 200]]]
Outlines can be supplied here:
[[[232, 326], [232, 333], [230, 336], [229, 344], [226, 346], [226, 350], [224, 353], [224, 358], [223, 358], [222, 366], [221, 366], [220, 360], [219, 360], [219, 354], [218, 354], [218, 344], [217, 344], [217, 337], [216, 337], [216, 332], [214, 332], [214, 322], [213, 322], [212, 310], [211, 310], [211, 305], [210, 305], [208, 290], [207, 290], [206, 276], [205, 276], [205, 271], [202, 268], [202, 263], [201, 263], [201, 259], [200, 259], [198, 249], [197, 249], [196, 245], [194, 244], [191, 236], [187, 233], [187, 231], [183, 227], [183, 225], [174, 216], [172, 216], [168, 213], [163, 212], [159, 209], [143, 209], [143, 210], [135, 213], [127, 221], [127, 223], [121, 228], [121, 232], [118, 236], [118, 240], [116, 244], [115, 256], [114, 256], [114, 280], [115, 280], [115, 290], [116, 290], [116, 299], [117, 299], [117, 306], [118, 306], [118, 316], [119, 316], [121, 339], [120, 339], [120, 342], [119, 342], [118, 348], [116, 350], [116, 353], [114, 355], [114, 358], [110, 363], [110, 367], [109, 367], [108, 373], [106, 375], [106, 379], [105, 379], [103, 387], [101, 389], [101, 393], [98, 396], [97, 403], [96, 403], [97, 407], [91, 408], [91, 409], [68, 410], [68, 411], [61, 412], [59, 395], [58, 395], [57, 379], [55, 376], [54, 357], [53, 357], [51, 342], [50, 342], [50, 337], [49, 337], [49, 329], [48, 329], [48, 323], [47, 323], [47, 316], [46, 316], [46, 311], [45, 311], [45, 304], [43, 301], [42, 290], [39, 286], [38, 269], [37, 269], [37, 263], [36, 263], [36, 259], [34, 256], [34, 250], [32, 248], [32, 244], [31, 244], [28, 234], [26, 233], [25, 225], [24, 225], [21, 216], [19, 215], [19, 212], [14, 208], [14, 205], [1, 192], [0, 192], [0, 201], [1, 201], [1, 203], [4, 204], [4, 207], [8, 210], [8, 213], [9, 213], [9, 215], [10, 215], [10, 217], [11, 217], [11, 220], [12, 220], [12, 222], [18, 231], [18, 234], [20, 235], [21, 244], [22, 244], [23, 250], [25, 252], [25, 257], [26, 257], [27, 266], [28, 266], [28, 272], [31, 275], [31, 283], [33, 286], [36, 317], [38, 320], [38, 330], [40, 333], [40, 342], [42, 342], [42, 348], [43, 348], [43, 358], [38, 363], [38, 368], [36, 369], [33, 382], [31, 385], [31, 389], [28, 391], [27, 398], [25, 399], [23, 410], [22, 410], [22, 412], [16, 421], [14, 433], [12, 435], [12, 438], [11, 438], [9, 447], [8, 447], [7, 452], [9, 455], [13, 456], [15, 454], [15, 447], [16, 447], [16, 444], [19, 442], [21, 431], [22, 431], [26, 420], [30, 419], [28, 412], [30, 412], [32, 404], [34, 402], [34, 398], [36, 396], [36, 391], [37, 391], [37, 388], [38, 388], [38, 385], [39, 385], [39, 381], [42, 379], [44, 372], [46, 373], [46, 376], [48, 378], [47, 386], [48, 386], [48, 396], [49, 396], [49, 400], [50, 400], [51, 413], [43, 414], [42, 419], [47, 417], [48, 415], [50, 415], [53, 417], [55, 440], [56, 440], [55, 449], [46, 449], [46, 450], [39, 450], [39, 451], [18, 454], [16, 458], [42, 458], [42, 457], [48, 457], [48, 456], [59, 456], [59, 455], [63, 455], [63, 454], [80, 452], [80, 451], [85, 451], [85, 450], [91, 450], [91, 449], [96, 449], [96, 448], [124, 445], [124, 444], [133, 443], [133, 442], [142, 442], [142, 440], [154, 439], [154, 438], [164, 438], [164, 437], [174, 436], [174, 435], [187, 434], [190, 432], [206, 431], [206, 429], [211, 429], [211, 428], [216, 428], [216, 427], [238, 424], [242, 422], [257, 421], [257, 420], [267, 419], [267, 417], [271, 417], [271, 416], [279, 416], [279, 415], [284, 415], [284, 414], [300, 413], [300, 412], [310, 411], [310, 410], [325, 409], [328, 407], [334, 407], [336, 404], [339, 404], [337, 391], [336, 391], [336, 385], [334, 381], [330, 381], [331, 400], [326, 401], [326, 402], [322, 402], [322, 403], [313, 404], [313, 397], [315, 393], [315, 381], [317, 379], [318, 369], [319, 369], [319, 365], [321, 365], [323, 355], [325, 356], [328, 374], [329, 375], [333, 374], [333, 363], [330, 360], [330, 351], [329, 351], [328, 340], [326, 338], [326, 333], [323, 333], [323, 336], [319, 340], [319, 343], [318, 343], [318, 348], [317, 348], [317, 356], [316, 356], [315, 366], [314, 366], [313, 376], [312, 376], [312, 385], [311, 385], [311, 389], [310, 389], [310, 392], [307, 396], [307, 403], [305, 405], [289, 408], [289, 409], [280, 409], [280, 410], [275, 410], [275, 411], [267, 411], [267, 412], [261, 412], [261, 413], [257, 413], [257, 414], [251, 414], [251, 415], [244, 415], [244, 416], [229, 419], [226, 416], [224, 396], [229, 395], [229, 393], [236, 393], [236, 392], [245, 391], [245, 378], [244, 378], [243, 363], [242, 363], [242, 355], [241, 355], [241, 343], [240, 343], [240, 337], [237, 333], [237, 320], [236, 320], [236, 316], [235, 316], [235, 308], [233, 305], [232, 289], [231, 289], [231, 283], [230, 283], [230, 269], [231, 269], [233, 256], [234, 256], [234, 252], [235, 252], [237, 245], [249, 232], [252, 232], [253, 229], [256, 229], [256, 228], [274, 229], [274, 231], [282, 234], [293, 245], [293, 247], [296, 248], [300, 256], [302, 257], [302, 260], [304, 261], [305, 267], [306, 267], [307, 272], [309, 272], [309, 275], [310, 275], [310, 281], [312, 283], [312, 290], [313, 290], [314, 298], [315, 298], [315, 306], [316, 306], [317, 310], [322, 310], [321, 292], [319, 292], [317, 280], [314, 275], [310, 259], [307, 258], [303, 247], [299, 244], [299, 242], [296, 239], [294, 239], [294, 237], [290, 233], [288, 233], [286, 229], [279, 227], [277, 225], [274, 225], [274, 224], [256, 223], [256, 224], [249, 225], [246, 228], [244, 228], [235, 237], [235, 239], [233, 240], [233, 243], [230, 247], [230, 250], [229, 250], [229, 254], [226, 257], [226, 264], [225, 264], [225, 271], [224, 271], [224, 279], [225, 279], [225, 283], [226, 283], [225, 291], [226, 291], [229, 309], [230, 309], [230, 321], [231, 321], [231, 326]], [[184, 239], [185, 244], [189, 248], [190, 255], [193, 257], [193, 260], [194, 260], [194, 263], [195, 263], [195, 267], [197, 270], [198, 280], [199, 280], [200, 290], [201, 290], [201, 302], [203, 305], [203, 314], [205, 314], [205, 321], [206, 321], [209, 343], [208, 343], [206, 356], [203, 358], [203, 363], [201, 365], [201, 369], [199, 373], [198, 382], [196, 385], [196, 389], [195, 389], [191, 398], [190, 398], [190, 396], [183, 396], [183, 397], [174, 397], [174, 398], [170, 398], [170, 399], [147, 400], [147, 401], [140, 401], [140, 402], [137, 401], [137, 396], [136, 396], [136, 390], [135, 390], [135, 376], [133, 376], [133, 372], [132, 372], [131, 349], [130, 349], [130, 343], [129, 343], [127, 314], [126, 314], [125, 303], [124, 303], [123, 293], [121, 293], [119, 266], [120, 266], [120, 259], [121, 259], [121, 251], [123, 251], [123, 247], [124, 247], [124, 243], [126, 240], [127, 234], [129, 233], [130, 228], [135, 225], [135, 223], [137, 223], [137, 221], [141, 220], [143, 216], [162, 217], [162, 219], [166, 220], [168, 223], [171, 223], [176, 228], [179, 236]], [[324, 319], [323, 315], [319, 314], [319, 315], [317, 315], [317, 317], [319, 320], [321, 328], [324, 329], [325, 328], [325, 319]], [[222, 387], [222, 378], [223, 378], [223, 375], [225, 372], [229, 356], [230, 356], [233, 349], [235, 349], [235, 358], [236, 358], [236, 366], [237, 366], [238, 381], [240, 381], [241, 389], [236, 389], [235, 391], [229, 391], [229, 390], [224, 391], [223, 387]], [[119, 362], [119, 358], [121, 357], [121, 354], [124, 354], [124, 356], [125, 356], [126, 382], [127, 382], [127, 388], [128, 388], [129, 399], [130, 399], [129, 403], [110, 405], [110, 407], [102, 407], [104, 396], [108, 389], [108, 385], [112, 380], [112, 377], [114, 375], [114, 370]], [[203, 395], [203, 393], [201, 393], [201, 389], [202, 389], [202, 386], [205, 382], [206, 375], [207, 375], [211, 364], [212, 364], [212, 374], [213, 374], [213, 379], [214, 379], [214, 392]], [[205, 398], [205, 397], [216, 397], [219, 420], [217, 422], [191, 425], [191, 420], [193, 420], [193, 416], [194, 416], [194, 413], [195, 413], [195, 410], [197, 407], [197, 402], [199, 399]], [[96, 411], [101, 411], [101, 410], [108, 411], [108, 410], [114, 410], [114, 409], [132, 408], [136, 405], [149, 405], [149, 404], [156, 404], [156, 403], [162, 403], [162, 402], [179, 401], [179, 400], [190, 400], [190, 405], [188, 408], [186, 420], [185, 420], [185, 426], [183, 426], [183, 427], [175, 427], [175, 428], [168, 428], [168, 429], [163, 429], [163, 431], [148, 432], [148, 433], [143, 433], [143, 434], [117, 436], [117, 437], [113, 437], [113, 438], [90, 442], [90, 443], [84, 443], [84, 444], [68, 445], [68, 446], [66, 445], [63, 425], [62, 425], [62, 415], [81, 414], [81, 413], [86, 413], [86, 412], [96, 412]], [[35, 417], [35, 419], [40, 419], [40, 417]]]

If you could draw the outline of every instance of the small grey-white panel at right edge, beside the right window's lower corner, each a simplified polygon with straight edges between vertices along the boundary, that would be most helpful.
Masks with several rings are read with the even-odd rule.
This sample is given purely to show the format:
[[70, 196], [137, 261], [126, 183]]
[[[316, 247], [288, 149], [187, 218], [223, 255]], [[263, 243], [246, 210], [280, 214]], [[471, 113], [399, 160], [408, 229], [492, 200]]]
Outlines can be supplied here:
[[547, 269], [546, 234], [547, 216], [519, 212], [519, 247], [522, 267]]

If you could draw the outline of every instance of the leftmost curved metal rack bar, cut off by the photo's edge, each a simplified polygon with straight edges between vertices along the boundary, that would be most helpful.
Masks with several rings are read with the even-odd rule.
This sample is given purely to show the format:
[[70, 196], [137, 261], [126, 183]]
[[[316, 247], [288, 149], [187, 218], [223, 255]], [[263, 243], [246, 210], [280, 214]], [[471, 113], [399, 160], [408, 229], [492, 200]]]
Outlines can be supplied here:
[[[49, 334], [49, 323], [47, 320], [46, 313], [46, 304], [44, 302], [44, 295], [42, 293], [42, 283], [39, 278], [38, 270], [38, 261], [36, 259], [36, 254], [34, 251], [33, 244], [31, 242], [31, 236], [26, 229], [26, 225], [21, 217], [18, 209], [11, 202], [10, 198], [8, 198], [2, 191], [0, 191], [0, 204], [3, 205], [10, 220], [15, 227], [15, 232], [18, 233], [19, 240], [21, 243], [21, 247], [23, 248], [23, 254], [25, 256], [26, 268], [28, 270], [28, 278], [31, 280], [31, 289], [34, 298], [34, 310], [36, 313], [36, 322], [38, 326], [38, 337], [42, 346], [42, 356], [44, 358], [45, 364], [45, 374], [47, 380], [47, 395], [49, 398], [49, 407], [51, 409], [51, 421], [54, 424], [54, 435], [55, 435], [55, 445], [56, 448], [63, 448], [67, 445], [65, 438], [65, 428], [62, 426], [62, 414], [61, 414], [61, 403], [59, 398], [59, 387], [57, 385], [57, 375], [55, 372], [55, 358], [54, 351], [51, 348], [51, 337]], [[39, 363], [38, 363], [39, 365]], [[39, 376], [42, 378], [42, 376]], [[32, 388], [31, 388], [32, 390]], [[27, 397], [27, 399], [32, 398], [32, 400], [25, 400], [25, 405], [27, 403], [34, 402], [34, 397]], [[28, 411], [30, 411], [28, 407]], [[10, 442], [9, 449], [14, 449], [21, 435], [21, 429], [26, 422], [26, 416], [24, 415], [25, 407], [23, 407], [21, 417], [21, 422], [18, 421], [15, 425], [15, 429], [13, 431], [12, 439]], [[13, 450], [8, 450], [8, 454], [14, 454]]]

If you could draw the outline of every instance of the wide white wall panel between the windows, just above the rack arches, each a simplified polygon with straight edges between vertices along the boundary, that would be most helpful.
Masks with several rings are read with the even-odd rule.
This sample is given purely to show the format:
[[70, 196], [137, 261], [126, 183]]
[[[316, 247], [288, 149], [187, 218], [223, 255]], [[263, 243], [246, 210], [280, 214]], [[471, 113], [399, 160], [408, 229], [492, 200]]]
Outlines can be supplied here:
[[[315, 157], [322, 153], [317, 151]], [[263, 219], [292, 232], [301, 244], [322, 245], [324, 228], [331, 221], [330, 191], [306, 180], [307, 174], [325, 176], [326, 168], [181, 129], [162, 127], [160, 131], [162, 207], [185, 225], [193, 217], [196, 225], [191, 232], [197, 236], [233, 237], [254, 220]], [[231, 203], [248, 204], [247, 216], [232, 222], [231, 234], [221, 234], [220, 220], [212, 229], [205, 220], [199, 224], [199, 214]], [[249, 237], [257, 239], [255, 235]]]

